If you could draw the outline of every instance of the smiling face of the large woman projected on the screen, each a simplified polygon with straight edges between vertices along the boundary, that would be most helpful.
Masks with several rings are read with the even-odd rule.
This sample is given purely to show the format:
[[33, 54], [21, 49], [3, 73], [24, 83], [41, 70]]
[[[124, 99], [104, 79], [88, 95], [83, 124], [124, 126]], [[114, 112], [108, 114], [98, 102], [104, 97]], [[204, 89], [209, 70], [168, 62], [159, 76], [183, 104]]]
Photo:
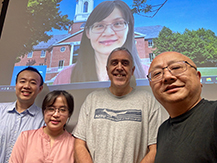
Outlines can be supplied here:
[[107, 18], [103, 19], [101, 22], [94, 23], [94, 25], [106, 25], [103, 32], [94, 33], [91, 28], [87, 30], [87, 37], [90, 39], [95, 53], [109, 55], [113, 49], [121, 47], [125, 43], [129, 30], [128, 25], [126, 25], [125, 29], [120, 31], [113, 30], [111, 26], [112, 23], [114, 24], [119, 21], [123, 22], [124, 19], [121, 11], [118, 8], [115, 8]]

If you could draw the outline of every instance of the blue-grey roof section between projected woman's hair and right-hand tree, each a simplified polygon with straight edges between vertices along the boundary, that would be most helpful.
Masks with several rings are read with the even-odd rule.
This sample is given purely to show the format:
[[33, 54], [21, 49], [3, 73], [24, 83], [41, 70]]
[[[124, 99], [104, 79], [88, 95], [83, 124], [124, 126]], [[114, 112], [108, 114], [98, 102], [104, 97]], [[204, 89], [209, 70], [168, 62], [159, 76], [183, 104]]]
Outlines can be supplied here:
[[152, 38], [157, 38], [162, 29], [163, 26], [155, 25], [155, 26], [135, 27], [134, 31], [144, 34], [145, 39], [152, 39]]

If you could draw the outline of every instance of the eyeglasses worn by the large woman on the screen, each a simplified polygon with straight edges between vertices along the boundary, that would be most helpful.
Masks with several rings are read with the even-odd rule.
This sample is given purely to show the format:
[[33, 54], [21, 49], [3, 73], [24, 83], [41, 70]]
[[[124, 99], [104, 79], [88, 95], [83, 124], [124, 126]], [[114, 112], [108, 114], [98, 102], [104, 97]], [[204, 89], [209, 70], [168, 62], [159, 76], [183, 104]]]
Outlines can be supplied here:
[[99, 34], [99, 33], [104, 32], [107, 26], [110, 26], [113, 31], [117, 32], [117, 31], [122, 31], [126, 29], [127, 25], [128, 23], [125, 20], [117, 20], [111, 24], [94, 23], [92, 26], [90, 26], [90, 29], [91, 29], [91, 32]]

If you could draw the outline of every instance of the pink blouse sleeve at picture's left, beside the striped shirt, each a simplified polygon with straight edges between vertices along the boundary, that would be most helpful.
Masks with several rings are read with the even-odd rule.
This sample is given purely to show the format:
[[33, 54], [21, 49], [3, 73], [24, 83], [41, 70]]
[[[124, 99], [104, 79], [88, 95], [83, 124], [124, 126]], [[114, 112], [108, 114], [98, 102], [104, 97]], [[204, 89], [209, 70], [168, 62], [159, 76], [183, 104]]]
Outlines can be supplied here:
[[25, 143], [27, 141], [27, 132], [22, 132], [11, 153], [10, 159], [9, 159], [9, 163], [18, 163], [18, 162], [24, 162], [24, 154], [25, 154], [25, 149], [26, 149], [26, 145], [27, 143]]

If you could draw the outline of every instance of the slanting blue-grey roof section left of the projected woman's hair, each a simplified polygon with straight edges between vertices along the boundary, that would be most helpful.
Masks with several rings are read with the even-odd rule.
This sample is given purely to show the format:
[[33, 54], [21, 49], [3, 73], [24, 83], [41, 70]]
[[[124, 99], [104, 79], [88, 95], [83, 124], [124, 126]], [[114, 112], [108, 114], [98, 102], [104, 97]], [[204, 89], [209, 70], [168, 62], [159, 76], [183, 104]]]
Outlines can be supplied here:
[[33, 50], [45, 50], [45, 49], [49, 49], [50, 47], [52, 47], [52, 45], [58, 43], [60, 40], [69, 37], [70, 33], [67, 34], [63, 34], [63, 35], [53, 35], [47, 42], [39, 42], [38, 45], [33, 46]]

